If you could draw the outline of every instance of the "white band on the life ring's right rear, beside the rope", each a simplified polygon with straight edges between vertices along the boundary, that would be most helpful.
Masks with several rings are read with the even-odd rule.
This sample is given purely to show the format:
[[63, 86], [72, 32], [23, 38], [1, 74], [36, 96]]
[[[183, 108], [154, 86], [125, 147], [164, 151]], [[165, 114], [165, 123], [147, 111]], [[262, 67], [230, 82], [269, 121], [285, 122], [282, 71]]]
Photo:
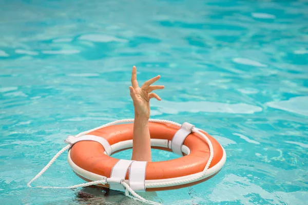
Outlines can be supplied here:
[[182, 145], [186, 137], [192, 132], [194, 125], [184, 122], [181, 126], [181, 129], [176, 132], [174, 137], [171, 140], [171, 149], [175, 154], [183, 156]]

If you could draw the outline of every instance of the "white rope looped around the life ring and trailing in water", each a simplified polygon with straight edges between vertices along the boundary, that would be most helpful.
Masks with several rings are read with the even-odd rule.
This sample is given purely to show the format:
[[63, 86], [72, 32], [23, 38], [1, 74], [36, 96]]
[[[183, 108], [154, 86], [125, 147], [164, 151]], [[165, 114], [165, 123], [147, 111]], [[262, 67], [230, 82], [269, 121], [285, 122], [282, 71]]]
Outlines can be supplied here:
[[[91, 129], [91, 130], [88, 130], [88, 131], [85, 131], [85, 132], [81, 132], [79, 133], [78, 135], [76, 135], [75, 137], [80, 137], [80, 136], [83, 136], [83, 135], [86, 135], [90, 132], [93, 132], [95, 130], [98, 130], [98, 129], [101, 129], [101, 128], [105, 128], [105, 127], [108, 127], [108, 126], [112, 126], [112, 125], [116, 125], [116, 124], [123, 124], [123, 123], [127, 123], [127, 122], [133, 122], [134, 119], [120, 119], [120, 120], [117, 120], [117, 121], [113, 121], [113, 122], [109, 122], [103, 126], [100, 126], [100, 127], [97, 127], [97, 128], [94, 128], [94, 129]], [[168, 124], [172, 124], [172, 125], [175, 125], [175, 126], [178, 126], [178, 127], [181, 127], [181, 124], [178, 124], [177, 122], [174, 122], [174, 121], [169, 121], [169, 120], [164, 120], [164, 119], [149, 119], [150, 122], [158, 122], [158, 123], [168, 123]], [[172, 186], [172, 185], [179, 185], [179, 184], [183, 184], [183, 183], [189, 183], [189, 182], [192, 182], [192, 181], [197, 181], [199, 179], [201, 179], [205, 174], [206, 174], [206, 171], [208, 170], [209, 166], [210, 166], [210, 163], [211, 161], [213, 160], [213, 157], [214, 157], [214, 150], [213, 150], [213, 145], [211, 144], [210, 140], [208, 139], [208, 137], [203, 134], [202, 132], [200, 132], [198, 129], [196, 128], [193, 128], [192, 129], [192, 132], [195, 132], [199, 135], [201, 135], [207, 142], [208, 146], [209, 146], [209, 151], [210, 151], [210, 155], [209, 155], [209, 159], [203, 169], [203, 171], [201, 173], [199, 173], [197, 176], [195, 177], [192, 177], [192, 178], [189, 178], [189, 179], [182, 179], [182, 180], [176, 180], [176, 181], [168, 181], [168, 182], [157, 182], [157, 183], [150, 183], [147, 187], [158, 187], [158, 186]], [[44, 172], [46, 172], [46, 170], [52, 165], [52, 163], [63, 153], [65, 152], [66, 150], [70, 149], [71, 148], [71, 145], [67, 145], [65, 146], [62, 150], [60, 150], [58, 153], [56, 153], [54, 155], [54, 157], [48, 162], [48, 164], [41, 170], [40, 173], [38, 173], [33, 179], [31, 179], [31, 181], [29, 181], [27, 183], [27, 186], [28, 187], [31, 187], [31, 188], [52, 188], [52, 189], [74, 189], [74, 188], [82, 188], [82, 187], [88, 187], [88, 186], [92, 186], [92, 185], [99, 185], [99, 184], [105, 184], [107, 183], [106, 182], [106, 179], [107, 177], [103, 177], [104, 179], [103, 180], [97, 180], [97, 181], [91, 181], [91, 182], [87, 182], [87, 183], [81, 183], [79, 185], [74, 185], [74, 186], [69, 186], [69, 187], [32, 187], [31, 186], [31, 183], [36, 180], [38, 177], [42, 176], [42, 174]], [[148, 203], [148, 204], [153, 204], [153, 205], [157, 205], [157, 204], [160, 204], [160, 203], [157, 203], [155, 201], [150, 201], [150, 200], [146, 200], [144, 199], [143, 197], [141, 197], [140, 195], [138, 195], [136, 192], [134, 192], [130, 187], [129, 185], [127, 185], [127, 183], [122, 180], [121, 181], [121, 185], [123, 185], [125, 187], [125, 195], [126, 196], [129, 196], [129, 193], [133, 196], [132, 198], [135, 199], [135, 200], [139, 200], [139, 201], [142, 201], [142, 202], [145, 202], [145, 203]]]

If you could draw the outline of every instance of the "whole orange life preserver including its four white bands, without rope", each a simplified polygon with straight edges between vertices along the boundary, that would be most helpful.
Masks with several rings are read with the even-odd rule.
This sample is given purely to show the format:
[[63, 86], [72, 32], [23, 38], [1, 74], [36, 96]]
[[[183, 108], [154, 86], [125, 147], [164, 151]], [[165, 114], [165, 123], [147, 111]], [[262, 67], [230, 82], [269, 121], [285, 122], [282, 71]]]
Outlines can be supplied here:
[[[120, 182], [124, 180], [134, 191], [161, 191], [196, 185], [215, 176], [224, 165], [226, 153], [219, 142], [187, 122], [181, 128], [165, 122], [149, 122], [149, 131], [151, 148], [183, 156], [158, 162], [111, 157], [111, 154], [132, 147], [133, 124], [122, 124], [68, 138], [67, 143], [72, 145], [68, 163], [75, 174], [86, 181], [106, 180], [107, 183], [97, 186], [121, 190]], [[204, 169], [210, 157], [210, 147], [206, 137], [197, 134], [198, 131], [213, 146], [213, 159], [206, 173]]]

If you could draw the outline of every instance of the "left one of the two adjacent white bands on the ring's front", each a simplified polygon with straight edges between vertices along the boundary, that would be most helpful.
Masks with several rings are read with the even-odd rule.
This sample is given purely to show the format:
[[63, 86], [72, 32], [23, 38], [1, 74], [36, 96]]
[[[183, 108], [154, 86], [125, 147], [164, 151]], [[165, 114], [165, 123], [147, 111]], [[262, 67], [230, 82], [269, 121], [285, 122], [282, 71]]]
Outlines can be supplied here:
[[127, 169], [132, 162], [132, 160], [120, 159], [115, 163], [111, 170], [110, 178], [106, 180], [109, 183], [109, 189], [124, 191], [121, 181], [125, 179]]

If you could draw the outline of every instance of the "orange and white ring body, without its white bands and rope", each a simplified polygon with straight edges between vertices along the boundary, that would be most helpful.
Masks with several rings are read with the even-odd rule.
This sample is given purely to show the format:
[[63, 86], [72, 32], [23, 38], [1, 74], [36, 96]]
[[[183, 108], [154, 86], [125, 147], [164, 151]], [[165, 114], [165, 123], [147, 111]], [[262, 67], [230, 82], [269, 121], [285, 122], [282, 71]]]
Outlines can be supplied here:
[[[171, 151], [168, 145], [178, 130], [179, 127], [172, 124], [149, 122], [152, 148]], [[208, 137], [214, 150], [213, 160], [207, 171], [208, 174], [197, 181], [168, 186], [151, 186], [147, 187], [146, 191], [179, 189], [196, 185], [213, 177], [221, 170], [226, 160], [224, 149], [216, 139], [206, 132], [200, 131]], [[88, 134], [106, 139], [110, 146], [114, 147], [112, 153], [116, 153], [131, 148], [132, 132], [133, 124], [122, 124], [101, 128]], [[122, 144], [124, 147], [120, 146]], [[189, 154], [186, 153], [185, 156], [167, 161], [147, 162], [145, 183], [187, 178], [202, 172], [210, 156], [206, 140], [196, 133], [190, 133], [186, 137], [183, 147], [188, 148]], [[119, 159], [108, 156], [104, 152], [103, 146], [96, 141], [79, 141], [69, 150], [68, 162], [75, 174], [86, 181], [98, 180], [99, 176], [110, 177], [111, 170]], [[127, 173], [126, 180], [128, 180], [128, 177]], [[109, 188], [108, 183], [98, 186]]]

